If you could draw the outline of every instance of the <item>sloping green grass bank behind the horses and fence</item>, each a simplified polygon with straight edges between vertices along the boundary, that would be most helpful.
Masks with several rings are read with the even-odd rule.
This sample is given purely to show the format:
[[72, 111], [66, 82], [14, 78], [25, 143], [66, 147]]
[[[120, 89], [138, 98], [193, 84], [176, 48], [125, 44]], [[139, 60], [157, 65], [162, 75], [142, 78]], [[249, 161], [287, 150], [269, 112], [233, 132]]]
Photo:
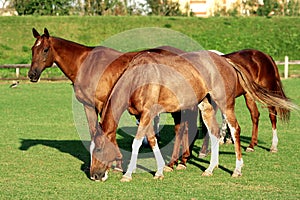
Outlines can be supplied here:
[[[204, 49], [223, 53], [254, 48], [270, 54], [275, 60], [300, 59], [299, 17], [0, 17], [0, 65], [31, 63], [34, 43], [31, 29], [89, 46], [105, 44], [112, 36], [135, 28], [157, 27], [178, 31], [193, 39]], [[161, 37], [161, 36], [160, 36]], [[136, 43], [136, 38], [126, 42]], [[299, 75], [299, 65], [290, 67], [291, 75]], [[283, 74], [283, 66], [279, 66]], [[26, 77], [28, 69], [21, 69]], [[51, 69], [44, 77], [62, 77]], [[1, 78], [15, 77], [14, 69], [0, 69]]]

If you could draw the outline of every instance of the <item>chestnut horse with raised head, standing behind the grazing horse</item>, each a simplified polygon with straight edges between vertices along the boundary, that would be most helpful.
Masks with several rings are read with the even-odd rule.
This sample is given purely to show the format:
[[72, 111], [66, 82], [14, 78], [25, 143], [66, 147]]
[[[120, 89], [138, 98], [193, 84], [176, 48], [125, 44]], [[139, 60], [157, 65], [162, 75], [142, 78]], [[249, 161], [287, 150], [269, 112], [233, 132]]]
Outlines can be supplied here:
[[[98, 114], [107, 101], [111, 88], [127, 69], [129, 62], [140, 52], [122, 53], [107, 47], [87, 47], [62, 38], [50, 36], [48, 30], [40, 35], [32, 29], [36, 41], [32, 47], [32, 63], [28, 76], [37, 82], [41, 73], [53, 63], [69, 78], [75, 90], [76, 98], [83, 103], [91, 138], [96, 134]], [[173, 47], [150, 49], [160, 54], [177, 54], [182, 51]], [[188, 112], [188, 111], [187, 111]], [[173, 113], [176, 138], [186, 131], [187, 122], [180, 120], [179, 113]], [[184, 132], [182, 134], [187, 134]], [[175, 139], [178, 141], [178, 139]], [[117, 145], [117, 143], [115, 143]], [[188, 144], [184, 151], [189, 156]], [[121, 157], [117, 157], [115, 170], [122, 171]], [[182, 163], [186, 163], [183, 158]]]

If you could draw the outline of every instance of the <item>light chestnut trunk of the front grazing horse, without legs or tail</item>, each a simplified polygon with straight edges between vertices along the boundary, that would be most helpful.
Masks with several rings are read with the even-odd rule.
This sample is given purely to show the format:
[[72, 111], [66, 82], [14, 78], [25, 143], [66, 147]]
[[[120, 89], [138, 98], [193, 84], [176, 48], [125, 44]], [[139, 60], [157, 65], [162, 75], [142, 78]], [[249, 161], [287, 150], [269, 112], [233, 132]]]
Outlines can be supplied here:
[[[228, 67], [222, 68], [224, 65]], [[162, 55], [149, 51], [130, 62], [109, 101], [114, 102], [113, 110], [120, 113], [124, 108], [135, 115], [145, 109], [154, 109], [154, 113], [176, 112], [198, 104], [208, 93], [216, 99], [224, 99], [224, 95], [230, 95], [227, 92], [233, 95], [234, 87], [229, 85], [235, 85], [236, 76], [226, 59], [217, 55]]]

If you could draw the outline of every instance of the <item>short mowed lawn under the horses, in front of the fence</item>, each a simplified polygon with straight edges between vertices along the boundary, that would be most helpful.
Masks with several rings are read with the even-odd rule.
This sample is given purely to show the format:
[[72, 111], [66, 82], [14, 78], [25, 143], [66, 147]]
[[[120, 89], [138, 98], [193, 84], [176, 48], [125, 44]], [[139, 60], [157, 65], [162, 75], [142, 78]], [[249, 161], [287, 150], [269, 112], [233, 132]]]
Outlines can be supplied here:
[[[300, 79], [283, 80], [283, 85], [300, 105]], [[101, 183], [84, 172], [89, 153], [75, 128], [69, 82], [21, 82], [14, 89], [2, 83], [0, 95], [0, 199], [300, 199], [299, 112], [291, 113], [289, 124], [278, 123], [279, 151], [271, 154], [271, 125], [267, 110], [259, 106], [259, 145], [253, 153], [243, 151], [240, 178], [231, 177], [233, 145], [221, 146], [219, 168], [212, 177], [201, 177], [210, 157], [197, 158], [203, 141], [199, 138], [185, 171], [165, 173], [162, 181], [153, 180], [151, 173], [136, 173], [130, 183], [121, 183], [122, 174], [111, 172]], [[245, 148], [251, 137], [250, 115], [243, 98], [236, 104]], [[164, 120], [168, 124], [162, 138], [166, 132], [174, 135], [170, 121]], [[135, 124], [127, 126], [134, 129]], [[130, 140], [118, 141], [131, 146]]]

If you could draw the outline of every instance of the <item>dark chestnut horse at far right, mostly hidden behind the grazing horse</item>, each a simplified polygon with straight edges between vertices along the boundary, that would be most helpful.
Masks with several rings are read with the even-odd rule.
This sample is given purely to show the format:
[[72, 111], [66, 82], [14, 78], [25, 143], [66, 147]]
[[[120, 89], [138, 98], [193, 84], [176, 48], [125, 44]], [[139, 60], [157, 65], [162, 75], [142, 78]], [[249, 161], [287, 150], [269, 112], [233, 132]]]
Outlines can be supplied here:
[[[229, 58], [232, 62], [243, 67], [249, 72], [252, 76], [252, 79], [259, 84], [260, 86], [266, 88], [267, 90], [272, 91], [273, 93], [279, 95], [282, 99], [288, 100], [286, 97], [283, 87], [280, 81], [280, 75], [278, 68], [272, 59], [271, 56], [253, 49], [245, 49], [229, 54], [222, 55], [225, 58]], [[240, 84], [240, 83], [239, 83]], [[258, 143], [258, 121], [259, 121], [259, 111], [255, 101], [251, 98], [245, 90], [237, 91], [235, 96], [239, 97], [243, 95], [247, 108], [251, 115], [252, 120], [252, 139], [246, 151], [254, 151], [254, 146]], [[277, 152], [278, 137], [277, 137], [277, 128], [276, 128], [276, 116], [279, 114], [279, 117], [282, 121], [288, 121], [290, 116], [290, 110], [283, 107], [268, 106], [269, 118], [272, 124], [272, 145], [270, 152]], [[225, 126], [226, 127], [226, 126]], [[199, 156], [203, 157], [207, 153], [208, 147], [208, 135], [204, 139]]]

